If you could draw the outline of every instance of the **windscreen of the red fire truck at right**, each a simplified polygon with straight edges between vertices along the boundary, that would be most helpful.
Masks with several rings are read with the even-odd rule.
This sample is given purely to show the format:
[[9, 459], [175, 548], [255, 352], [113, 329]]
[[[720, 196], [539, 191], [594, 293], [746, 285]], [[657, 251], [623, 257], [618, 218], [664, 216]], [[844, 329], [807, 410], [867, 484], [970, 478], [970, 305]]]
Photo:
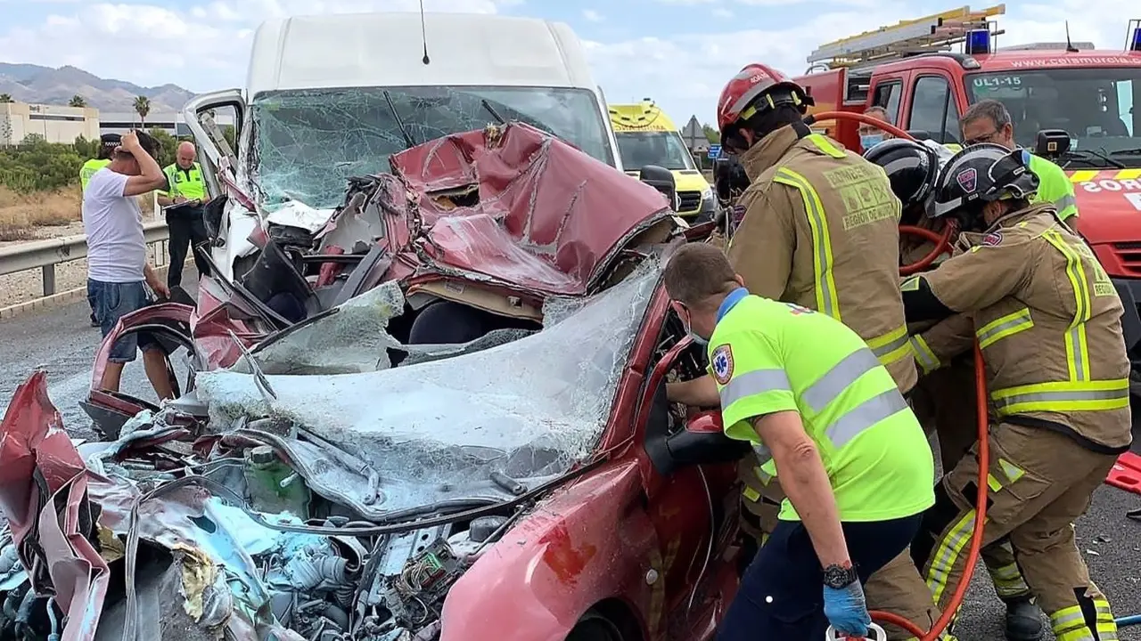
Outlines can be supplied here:
[[[1063, 129], [1075, 152], [1097, 152], [1114, 165], [1141, 167], [1141, 67], [1008, 70], [965, 76], [971, 103], [1003, 103], [1014, 139], [1034, 148], [1042, 129]], [[1069, 167], [1102, 167], [1094, 154], [1075, 154]]]

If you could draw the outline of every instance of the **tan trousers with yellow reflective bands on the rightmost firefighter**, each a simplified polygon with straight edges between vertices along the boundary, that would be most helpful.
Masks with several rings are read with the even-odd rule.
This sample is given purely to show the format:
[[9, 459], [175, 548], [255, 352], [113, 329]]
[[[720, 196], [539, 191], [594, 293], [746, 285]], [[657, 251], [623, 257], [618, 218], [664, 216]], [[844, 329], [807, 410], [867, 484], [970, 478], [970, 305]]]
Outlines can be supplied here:
[[[1109, 602], [1090, 579], [1074, 521], [1090, 506], [1116, 456], [1090, 452], [1043, 428], [990, 429], [987, 527], [982, 544], [1008, 539], [1017, 566], [1050, 617], [1058, 641], [1116, 641]], [[958, 586], [974, 534], [978, 446], [944, 476], [912, 557], [939, 608]]]

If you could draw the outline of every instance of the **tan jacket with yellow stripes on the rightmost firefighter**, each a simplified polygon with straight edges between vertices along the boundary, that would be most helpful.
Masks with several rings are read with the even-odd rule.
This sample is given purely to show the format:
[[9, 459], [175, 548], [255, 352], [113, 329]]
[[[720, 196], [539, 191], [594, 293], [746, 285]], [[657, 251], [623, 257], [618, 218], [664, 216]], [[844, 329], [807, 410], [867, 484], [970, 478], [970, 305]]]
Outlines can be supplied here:
[[[973, 314], [997, 419], [1065, 431], [1093, 452], [1126, 451], [1132, 437], [1122, 301], [1085, 242], [1052, 205], [1038, 204], [985, 233], [963, 233], [958, 244], [961, 253], [903, 289], [907, 294], [926, 287], [950, 310]], [[946, 346], [955, 342], [969, 349], [962, 323], [952, 317], [920, 340], [948, 354], [954, 349]], [[916, 351], [923, 363], [926, 355]]]

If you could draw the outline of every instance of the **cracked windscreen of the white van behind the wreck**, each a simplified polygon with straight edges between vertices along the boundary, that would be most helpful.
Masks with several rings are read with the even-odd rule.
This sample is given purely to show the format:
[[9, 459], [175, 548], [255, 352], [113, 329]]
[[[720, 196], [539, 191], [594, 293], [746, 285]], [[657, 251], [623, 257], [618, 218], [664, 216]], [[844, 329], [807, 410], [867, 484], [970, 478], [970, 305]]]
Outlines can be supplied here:
[[249, 170], [262, 204], [339, 205], [348, 178], [388, 171], [388, 156], [407, 146], [396, 115], [414, 144], [483, 129], [502, 117], [553, 133], [614, 164], [606, 122], [586, 89], [389, 87], [387, 98], [385, 91], [306, 89], [257, 96]]

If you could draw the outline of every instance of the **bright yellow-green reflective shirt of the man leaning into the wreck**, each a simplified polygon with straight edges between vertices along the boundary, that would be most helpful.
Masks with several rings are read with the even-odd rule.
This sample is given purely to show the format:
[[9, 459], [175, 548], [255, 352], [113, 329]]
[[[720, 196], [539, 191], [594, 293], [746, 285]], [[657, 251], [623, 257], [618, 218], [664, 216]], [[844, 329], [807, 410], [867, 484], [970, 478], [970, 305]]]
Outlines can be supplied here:
[[[778, 473], [752, 421], [798, 412], [832, 481], [840, 520], [883, 521], [934, 504], [934, 459], [895, 379], [843, 323], [739, 289], [721, 305], [710, 373], [730, 438]], [[800, 520], [785, 498], [780, 519]]]

